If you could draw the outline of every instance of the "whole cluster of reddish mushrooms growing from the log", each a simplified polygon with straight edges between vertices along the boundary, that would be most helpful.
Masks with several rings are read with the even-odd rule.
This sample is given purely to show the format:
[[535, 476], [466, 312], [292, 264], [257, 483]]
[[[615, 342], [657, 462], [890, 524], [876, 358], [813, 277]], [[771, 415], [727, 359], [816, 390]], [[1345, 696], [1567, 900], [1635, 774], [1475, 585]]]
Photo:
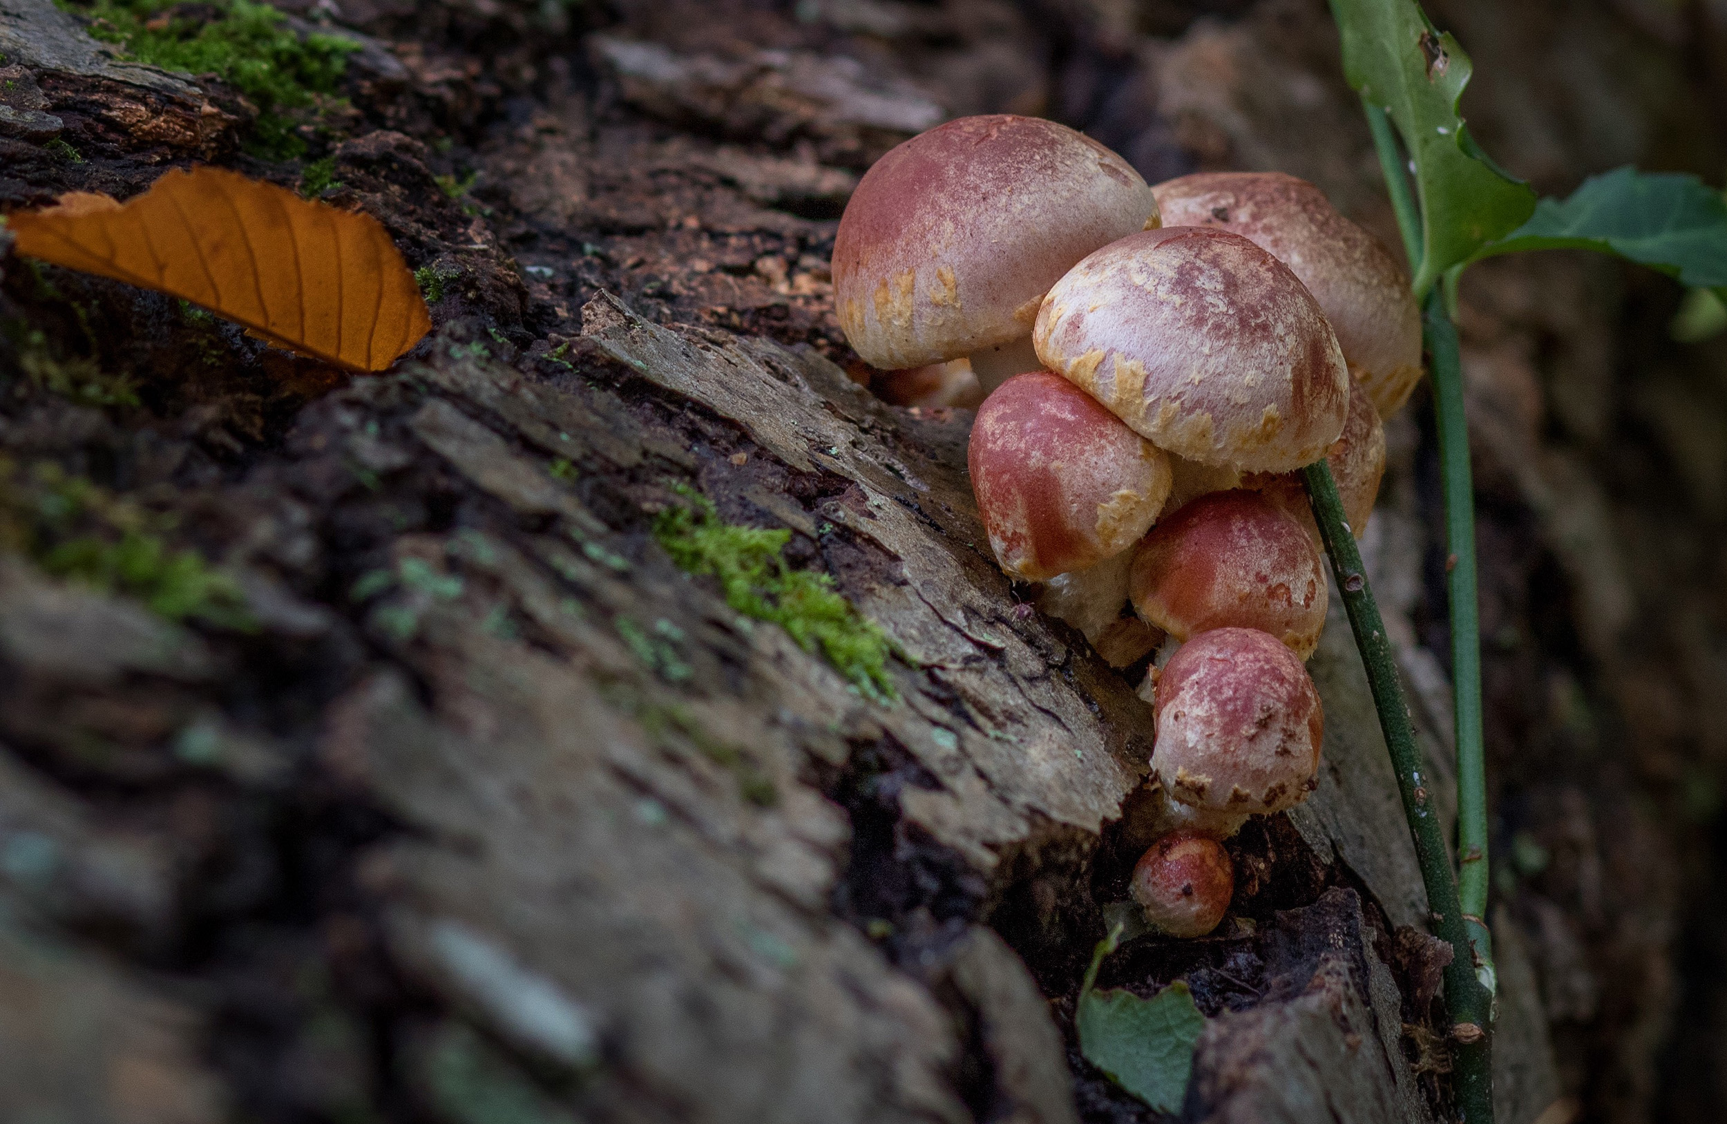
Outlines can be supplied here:
[[1131, 894], [1154, 929], [1209, 932], [1233, 893], [1221, 841], [1316, 786], [1304, 660], [1328, 592], [1299, 471], [1326, 458], [1364, 530], [1382, 418], [1421, 375], [1397, 261], [1294, 176], [1148, 186], [1081, 133], [1002, 114], [870, 167], [832, 278], [867, 363], [969, 361], [1002, 568], [1117, 668], [1155, 653], [1155, 839]]

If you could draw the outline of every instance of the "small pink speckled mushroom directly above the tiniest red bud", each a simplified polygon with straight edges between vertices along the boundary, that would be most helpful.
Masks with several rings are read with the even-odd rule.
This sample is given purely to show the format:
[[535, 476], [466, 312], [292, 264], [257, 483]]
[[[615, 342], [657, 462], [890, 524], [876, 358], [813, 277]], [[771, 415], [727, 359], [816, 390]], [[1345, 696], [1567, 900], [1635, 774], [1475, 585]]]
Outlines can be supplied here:
[[1204, 811], [1269, 815], [1313, 791], [1325, 713], [1307, 668], [1256, 628], [1202, 632], [1157, 680], [1152, 772]]

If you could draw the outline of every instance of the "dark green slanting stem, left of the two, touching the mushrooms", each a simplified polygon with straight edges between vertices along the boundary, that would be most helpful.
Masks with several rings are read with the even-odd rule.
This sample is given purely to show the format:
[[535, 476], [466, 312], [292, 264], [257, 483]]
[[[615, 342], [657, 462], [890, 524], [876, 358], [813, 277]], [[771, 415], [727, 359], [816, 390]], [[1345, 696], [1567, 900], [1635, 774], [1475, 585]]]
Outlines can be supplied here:
[[[1452, 1022], [1458, 1108], [1464, 1124], [1490, 1124], [1494, 1119], [1492, 1086], [1492, 996], [1477, 979], [1470, 953], [1470, 932], [1463, 922], [1458, 886], [1451, 875], [1451, 856], [1445, 853], [1445, 836], [1433, 806], [1433, 792], [1423, 770], [1421, 746], [1414, 737], [1414, 722], [1404, 701], [1397, 679], [1397, 661], [1380, 606], [1373, 601], [1361, 551], [1344, 521], [1344, 501], [1337, 496], [1332, 466], [1323, 459], [1302, 470], [1313, 518], [1319, 525], [1337, 587], [1344, 594], [1349, 627], [1356, 634], [1361, 663], [1368, 670], [1368, 687], [1373, 706], [1385, 732], [1392, 768], [1397, 772], [1397, 791], [1402, 794], [1404, 817], [1414, 837], [1416, 860], [1421, 865], [1421, 882], [1427, 886], [1427, 905], [1433, 931], [1451, 944], [1451, 963], [1445, 965], [1445, 1010]], [[1473, 1039], [1473, 1041], [1471, 1041]]]

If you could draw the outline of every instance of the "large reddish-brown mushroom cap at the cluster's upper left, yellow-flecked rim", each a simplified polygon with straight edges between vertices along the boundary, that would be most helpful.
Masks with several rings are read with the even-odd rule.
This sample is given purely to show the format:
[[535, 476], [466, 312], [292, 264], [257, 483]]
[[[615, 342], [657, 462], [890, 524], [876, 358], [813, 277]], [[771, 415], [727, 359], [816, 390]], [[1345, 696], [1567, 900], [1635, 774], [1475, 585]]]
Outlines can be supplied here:
[[865, 363], [955, 359], [1028, 335], [1076, 261], [1155, 224], [1140, 173], [1083, 133], [958, 117], [864, 174], [834, 238], [834, 307]]

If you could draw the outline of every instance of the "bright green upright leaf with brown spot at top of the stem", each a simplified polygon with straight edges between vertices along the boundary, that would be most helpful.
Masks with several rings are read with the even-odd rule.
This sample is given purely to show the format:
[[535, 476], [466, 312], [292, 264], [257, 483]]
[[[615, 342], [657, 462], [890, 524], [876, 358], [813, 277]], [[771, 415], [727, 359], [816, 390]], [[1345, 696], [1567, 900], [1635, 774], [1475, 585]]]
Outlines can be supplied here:
[[1385, 107], [1402, 133], [1421, 197], [1416, 297], [1445, 269], [1516, 230], [1535, 192], [1494, 164], [1458, 116], [1473, 66], [1413, 0], [1332, 0], [1344, 36], [1344, 76]]

